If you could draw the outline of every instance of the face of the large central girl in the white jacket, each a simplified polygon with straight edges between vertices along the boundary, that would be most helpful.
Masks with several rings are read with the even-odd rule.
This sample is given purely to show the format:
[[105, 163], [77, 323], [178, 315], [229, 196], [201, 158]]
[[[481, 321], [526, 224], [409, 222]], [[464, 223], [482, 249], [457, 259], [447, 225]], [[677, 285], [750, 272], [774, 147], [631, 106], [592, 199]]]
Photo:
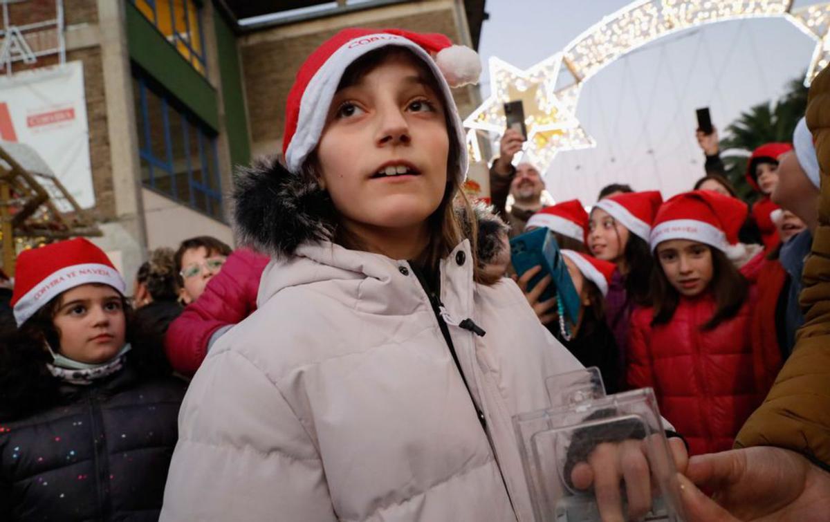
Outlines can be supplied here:
[[441, 96], [396, 53], [334, 95], [317, 156], [321, 184], [351, 232], [427, 227], [447, 186]]

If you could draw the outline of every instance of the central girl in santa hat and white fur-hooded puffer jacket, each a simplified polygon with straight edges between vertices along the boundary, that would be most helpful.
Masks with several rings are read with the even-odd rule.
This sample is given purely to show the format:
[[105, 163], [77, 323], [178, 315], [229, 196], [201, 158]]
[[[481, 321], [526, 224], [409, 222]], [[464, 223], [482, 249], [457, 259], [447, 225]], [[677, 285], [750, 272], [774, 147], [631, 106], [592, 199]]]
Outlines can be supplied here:
[[[500, 229], [459, 190], [450, 90], [477, 76], [471, 52], [353, 28], [300, 67], [285, 163], [237, 178], [237, 231], [273, 259], [256, 312], [190, 385], [162, 520], [534, 519], [511, 417], [581, 365], [484, 271], [479, 233]], [[642, 516], [642, 445], [610, 449], [580, 484], [596, 476], [600, 510], [622, 519], [634, 473]]]

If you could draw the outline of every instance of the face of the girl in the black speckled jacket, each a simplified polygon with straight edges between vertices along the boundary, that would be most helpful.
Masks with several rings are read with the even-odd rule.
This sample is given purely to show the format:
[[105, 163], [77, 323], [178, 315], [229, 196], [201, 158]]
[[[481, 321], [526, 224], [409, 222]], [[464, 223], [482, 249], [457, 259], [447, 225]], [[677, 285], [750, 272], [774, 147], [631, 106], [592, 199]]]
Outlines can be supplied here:
[[52, 324], [58, 330], [60, 347], [69, 359], [81, 363], [104, 363], [124, 347], [126, 320], [121, 295], [110, 285], [88, 284], [61, 295]]

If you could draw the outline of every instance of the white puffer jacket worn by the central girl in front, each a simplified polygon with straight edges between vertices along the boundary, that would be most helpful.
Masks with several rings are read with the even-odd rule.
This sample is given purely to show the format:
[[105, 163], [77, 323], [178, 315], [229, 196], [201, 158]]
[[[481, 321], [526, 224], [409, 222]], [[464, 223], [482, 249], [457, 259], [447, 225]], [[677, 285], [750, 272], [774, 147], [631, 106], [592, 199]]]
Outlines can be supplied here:
[[486, 330], [448, 327], [468, 393], [406, 261], [328, 241], [272, 261], [193, 378], [161, 520], [533, 520], [511, 417], [580, 365], [471, 265], [463, 241], [440, 295]]

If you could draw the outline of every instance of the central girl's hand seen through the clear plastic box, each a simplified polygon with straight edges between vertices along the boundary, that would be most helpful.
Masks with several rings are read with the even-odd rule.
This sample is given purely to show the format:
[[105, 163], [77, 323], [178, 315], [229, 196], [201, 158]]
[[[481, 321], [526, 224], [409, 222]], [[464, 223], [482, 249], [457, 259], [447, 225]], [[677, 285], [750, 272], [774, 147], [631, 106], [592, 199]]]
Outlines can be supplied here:
[[[669, 438], [668, 443], [676, 469], [686, 470], [689, 461], [686, 445], [677, 437]], [[599, 444], [588, 456], [588, 462], [574, 466], [571, 482], [579, 490], [587, 490], [593, 485], [603, 522], [623, 522], [640, 520], [652, 509], [652, 497], [657, 490], [657, 484], [652, 484], [652, 476], [647, 441], [628, 439]], [[625, 516], [620, 481], [624, 481], [626, 488], [628, 508]]]

